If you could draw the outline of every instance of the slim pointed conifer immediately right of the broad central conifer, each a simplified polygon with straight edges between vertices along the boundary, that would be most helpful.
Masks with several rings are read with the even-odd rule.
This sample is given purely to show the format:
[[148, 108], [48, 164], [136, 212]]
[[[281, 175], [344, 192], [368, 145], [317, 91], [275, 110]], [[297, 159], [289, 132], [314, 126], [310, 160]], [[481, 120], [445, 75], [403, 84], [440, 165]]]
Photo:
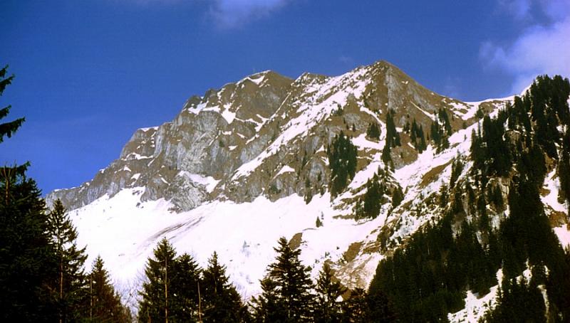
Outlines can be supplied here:
[[341, 282], [333, 282], [333, 272], [328, 263], [323, 265], [316, 281], [315, 322], [341, 322], [342, 302], [338, 297], [346, 292]]

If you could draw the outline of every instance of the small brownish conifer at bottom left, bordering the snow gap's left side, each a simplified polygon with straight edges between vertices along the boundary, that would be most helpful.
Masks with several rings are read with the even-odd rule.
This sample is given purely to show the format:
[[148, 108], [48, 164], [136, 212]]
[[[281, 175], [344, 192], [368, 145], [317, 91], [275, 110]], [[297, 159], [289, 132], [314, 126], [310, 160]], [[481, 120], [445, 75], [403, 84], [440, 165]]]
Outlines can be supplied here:
[[130, 322], [130, 314], [120, 302], [120, 296], [109, 282], [103, 259], [95, 258], [89, 279], [90, 322]]

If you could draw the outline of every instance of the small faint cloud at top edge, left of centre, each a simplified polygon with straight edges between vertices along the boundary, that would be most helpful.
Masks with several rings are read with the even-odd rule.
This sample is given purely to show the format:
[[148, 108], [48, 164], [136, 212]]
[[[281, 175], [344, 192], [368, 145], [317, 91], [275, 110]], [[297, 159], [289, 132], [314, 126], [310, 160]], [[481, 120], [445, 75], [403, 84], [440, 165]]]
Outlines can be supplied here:
[[209, 14], [221, 28], [241, 26], [281, 9], [289, 0], [214, 0]]

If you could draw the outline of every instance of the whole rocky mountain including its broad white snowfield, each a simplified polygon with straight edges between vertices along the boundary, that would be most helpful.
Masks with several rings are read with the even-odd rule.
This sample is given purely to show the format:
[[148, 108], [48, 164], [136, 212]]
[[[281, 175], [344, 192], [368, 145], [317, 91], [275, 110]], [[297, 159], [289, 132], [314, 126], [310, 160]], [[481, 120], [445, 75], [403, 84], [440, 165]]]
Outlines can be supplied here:
[[[140, 285], [146, 258], [166, 237], [201, 265], [217, 251], [249, 298], [280, 236], [301, 247], [314, 277], [328, 262], [343, 285], [366, 288], [379, 260], [442, 218], [442, 191], [451, 196], [452, 183], [472, 179], [472, 134], [513, 100], [445, 97], [385, 61], [336, 77], [266, 71], [190, 97], [172, 122], [138, 129], [91, 181], [46, 200], [61, 199], [80, 244], [125, 290]], [[331, 163], [343, 135], [356, 147], [353, 176], [346, 163]], [[337, 187], [339, 174], [348, 181]], [[492, 179], [505, 199], [510, 178]], [[541, 201], [568, 245], [559, 187], [552, 159]], [[489, 210], [496, 221], [508, 215]]]

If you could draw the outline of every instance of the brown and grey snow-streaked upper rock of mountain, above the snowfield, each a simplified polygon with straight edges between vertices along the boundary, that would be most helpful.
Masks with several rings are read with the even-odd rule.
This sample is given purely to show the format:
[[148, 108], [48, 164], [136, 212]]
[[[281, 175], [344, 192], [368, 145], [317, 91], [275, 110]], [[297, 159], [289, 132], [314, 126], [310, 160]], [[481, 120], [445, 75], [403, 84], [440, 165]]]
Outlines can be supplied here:
[[[356, 138], [375, 122], [385, 134], [385, 115], [393, 110], [396, 127], [415, 120], [430, 129], [437, 110], [450, 112], [454, 129], [475, 122], [474, 107], [423, 88], [384, 61], [338, 77], [305, 73], [291, 80], [266, 71], [202, 97], [190, 97], [172, 122], [138, 129], [119, 159], [73, 189], [53, 191], [73, 210], [121, 189], [145, 187], [141, 201], [165, 198], [174, 211], [204, 201], [271, 200], [326, 190], [325, 149], [343, 131]], [[382, 139], [382, 138], [380, 138]], [[402, 134], [393, 149], [396, 168], [417, 152]], [[360, 167], [379, 149], [359, 151]]]

